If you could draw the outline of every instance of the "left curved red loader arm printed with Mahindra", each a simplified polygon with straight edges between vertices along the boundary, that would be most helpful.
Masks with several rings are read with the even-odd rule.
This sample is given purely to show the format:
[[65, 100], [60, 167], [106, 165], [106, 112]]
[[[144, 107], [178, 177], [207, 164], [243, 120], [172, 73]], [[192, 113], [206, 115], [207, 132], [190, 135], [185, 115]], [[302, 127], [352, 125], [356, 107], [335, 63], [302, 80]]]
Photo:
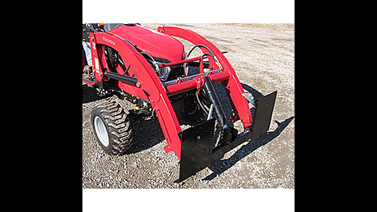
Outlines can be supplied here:
[[[119, 52], [126, 66], [131, 65], [128, 72], [131, 77], [137, 80], [138, 86], [119, 81], [119, 88], [130, 95], [150, 101], [166, 138], [165, 151], [174, 151], [175, 155], [181, 160], [181, 140], [178, 137], [181, 127], [161, 80], [147, 60], [126, 40], [110, 33], [90, 33], [90, 45], [95, 77], [98, 81], [103, 80], [104, 70], [109, 71], [110, 69], [107, 67], [103, 50], [97, 47], [93, 48], [93, 46], [110, 46]], [[124, 74], [122, 69], [117, 69], [117, 72]]]

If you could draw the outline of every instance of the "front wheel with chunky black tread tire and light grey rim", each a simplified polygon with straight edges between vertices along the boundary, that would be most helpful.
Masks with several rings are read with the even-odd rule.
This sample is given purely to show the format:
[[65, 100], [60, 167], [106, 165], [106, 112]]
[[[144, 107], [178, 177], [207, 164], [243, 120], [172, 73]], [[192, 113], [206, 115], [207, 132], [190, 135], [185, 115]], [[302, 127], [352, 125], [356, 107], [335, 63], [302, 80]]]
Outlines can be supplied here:
[[97, 141], [107, 154], [124, 154], [132, 146], [134, 119], [116, 101], [95, 106], [91, 119]]

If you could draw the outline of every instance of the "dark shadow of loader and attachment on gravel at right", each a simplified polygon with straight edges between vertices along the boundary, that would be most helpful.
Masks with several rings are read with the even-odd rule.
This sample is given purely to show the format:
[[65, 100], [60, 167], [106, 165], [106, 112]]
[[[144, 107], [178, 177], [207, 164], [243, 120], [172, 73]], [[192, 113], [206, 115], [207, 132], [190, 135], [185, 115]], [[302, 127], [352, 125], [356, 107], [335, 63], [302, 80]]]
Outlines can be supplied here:
[[[259, 99], [263, 97], [261, 92], [257, 91], [254, 88], [251, 88], [247, 84], [241, 83], [242, 88], [250, 92], [251, 95], [253, 95], [254, 100]], [[255, 108], [251, 108], [251, 115], [254, 118], [254, 112]], [[213, 178], [219, 176], [223, 172], [227, 171], [230, 167], [232, 167], [234, 164], [236, 164], [239, 160], [246, 157], [247, 155], [251, 154], [254, 150], [258, 149], [259, 147], [267, 144], [274, 138], [276, 138], [280, 133], [288, 126], [288, 124], [293, 120], [293, 117], [287, 118], [286, 120], [279, 122], [276, 121], [278, 127], [272, 131], [272, 132], [266, 132], [259, 136], [258, 138], [249, 141], [247, 144], [242, 146], [240, 149], [238, 149], [230, 158], [223, 159], [224, 155], [217, 158], [215, 161], [211, 163], [210, 166], [208, 166], [211, 171], [213, 171], [212, 174], [208, 175], [207, 177], [203, 178], [202, 180], [212, 180]]]

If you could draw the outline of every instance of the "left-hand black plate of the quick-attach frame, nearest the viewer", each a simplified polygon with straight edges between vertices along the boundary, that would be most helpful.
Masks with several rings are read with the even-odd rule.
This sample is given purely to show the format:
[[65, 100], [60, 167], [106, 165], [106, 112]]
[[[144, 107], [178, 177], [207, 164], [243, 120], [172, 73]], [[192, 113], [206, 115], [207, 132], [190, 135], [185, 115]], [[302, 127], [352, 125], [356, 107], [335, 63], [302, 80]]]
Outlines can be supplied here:
[[211, 118], [178, 134], [182, 147], [179, 179], [176, 183], [195, 175], [211, 164], [214, 130], [215, 118]]

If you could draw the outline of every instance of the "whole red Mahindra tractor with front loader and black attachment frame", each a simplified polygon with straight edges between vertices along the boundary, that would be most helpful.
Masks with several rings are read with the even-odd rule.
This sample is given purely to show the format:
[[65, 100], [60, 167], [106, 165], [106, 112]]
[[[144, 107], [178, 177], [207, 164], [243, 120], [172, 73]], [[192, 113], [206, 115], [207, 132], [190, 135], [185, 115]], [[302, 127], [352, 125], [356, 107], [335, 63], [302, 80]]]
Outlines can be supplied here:
[[[167, 142], [164, 150], [173, 151], [180, 161], [176, 182], [181, 182], [270, 127], [276, 91], [255, 101], [248, 97], [223, 53], [201, 35], [172, 26], [152, 31], [139, 24], [106, 24], [103, 29], [83, 25], [83, 29], [93, 63], [85, 66], [83, 53], [83, 82], [99, 95], [114, 93], [135, 104], [129, 111], [115, 101], [93, 108], [93, 129], [108, 154], [124, 154], [130, 148], [136, 136], [133, 123], [139, 117], [157, 117]], [[190, 41], [202, 55], [189, 58], [193, 49], [187, 54], [172, 36]], [[190, 73], [189, 66], [198, 71]], [[219, 81], [233, 109], [231, 117], [226, 117], [213, 87]], [[254, 118], [248, 101], [256, 107]], [[177, 115], [196, 124], [182, 131]], [[230, 126], [229, 121], [237, 120], [242, 121], [243, 132]], [[213, 146], [215, 123], [221, 133]]]

